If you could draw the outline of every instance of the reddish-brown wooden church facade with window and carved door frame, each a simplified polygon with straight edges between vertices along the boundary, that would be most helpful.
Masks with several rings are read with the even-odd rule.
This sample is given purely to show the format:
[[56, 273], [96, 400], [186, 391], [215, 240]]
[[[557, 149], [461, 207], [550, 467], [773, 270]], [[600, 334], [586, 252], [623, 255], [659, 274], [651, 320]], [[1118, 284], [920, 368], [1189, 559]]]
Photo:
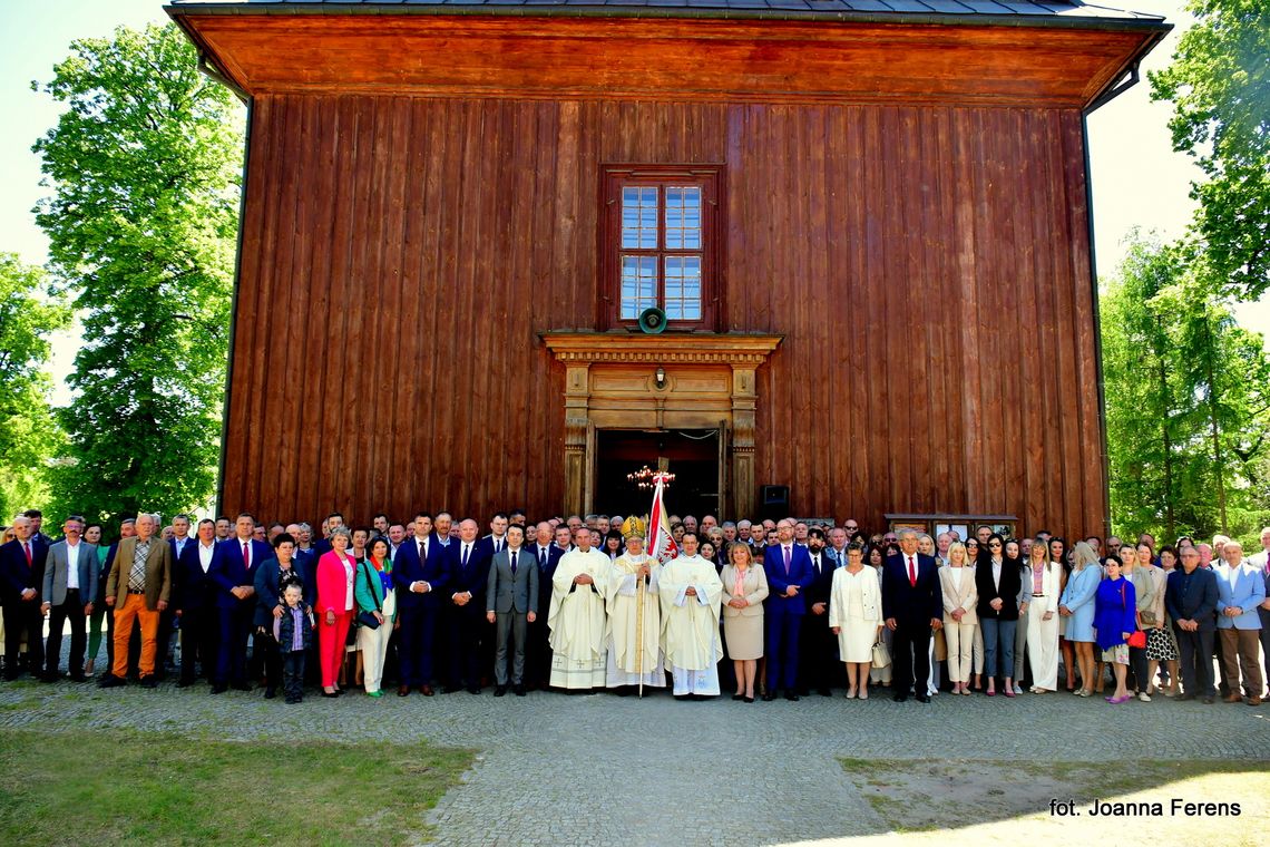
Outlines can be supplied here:
[[[1083, 116], [1158, 19], [169, 13], [250, 103], [224, 510], [605, 509], [606, 451], [714, 432], [695, 456], [728, 517], [781, 484], [865, 526], [1104, 530]], [[648, 305], [667, 331], [632, 325]]]

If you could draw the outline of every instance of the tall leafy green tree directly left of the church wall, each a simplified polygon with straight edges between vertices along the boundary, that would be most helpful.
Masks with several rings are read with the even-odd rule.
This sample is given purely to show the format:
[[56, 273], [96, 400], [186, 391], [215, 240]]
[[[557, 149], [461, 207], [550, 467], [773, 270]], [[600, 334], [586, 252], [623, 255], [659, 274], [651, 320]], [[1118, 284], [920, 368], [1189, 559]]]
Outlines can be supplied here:
[[57, 498], [193, 508], [216, 477], [243, 109], [171, 24], [76, 41], [53, 70], [33, 84], [65, 104], [34, 146], [53, 190], [36, 212], [84, 323]]

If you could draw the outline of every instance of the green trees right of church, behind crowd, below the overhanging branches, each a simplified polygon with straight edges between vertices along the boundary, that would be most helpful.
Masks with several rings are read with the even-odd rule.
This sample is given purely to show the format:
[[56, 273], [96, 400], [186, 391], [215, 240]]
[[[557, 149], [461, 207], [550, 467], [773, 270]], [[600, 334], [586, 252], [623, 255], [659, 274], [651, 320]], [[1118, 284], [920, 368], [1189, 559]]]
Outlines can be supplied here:
[[1270, 517], [1270, 357], [1180, 245], [1137, 241], [1101, 298], [1113, 524], [1248, 535]]

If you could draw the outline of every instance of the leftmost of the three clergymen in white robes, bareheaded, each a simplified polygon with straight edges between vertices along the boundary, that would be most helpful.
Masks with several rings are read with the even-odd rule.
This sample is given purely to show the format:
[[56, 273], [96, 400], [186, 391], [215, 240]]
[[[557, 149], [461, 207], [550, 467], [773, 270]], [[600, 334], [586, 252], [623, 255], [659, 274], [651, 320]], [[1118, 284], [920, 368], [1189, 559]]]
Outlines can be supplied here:
[[551, 686], [572, 691], [605, 687], [605, 592], [610, 561], [582, 527], [578, 546], [560, 557], [551, 578]]

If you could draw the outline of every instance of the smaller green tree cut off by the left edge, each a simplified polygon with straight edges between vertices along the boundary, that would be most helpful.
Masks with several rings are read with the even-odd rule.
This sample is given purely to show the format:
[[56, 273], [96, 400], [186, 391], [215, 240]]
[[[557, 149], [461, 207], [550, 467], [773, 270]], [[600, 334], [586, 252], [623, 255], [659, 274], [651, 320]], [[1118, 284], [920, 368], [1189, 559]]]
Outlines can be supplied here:
[[48, 337], [70, 323], [42, 268], [0, 253], [0, 523], [48, 497], [64, 436], [48, 408]]

